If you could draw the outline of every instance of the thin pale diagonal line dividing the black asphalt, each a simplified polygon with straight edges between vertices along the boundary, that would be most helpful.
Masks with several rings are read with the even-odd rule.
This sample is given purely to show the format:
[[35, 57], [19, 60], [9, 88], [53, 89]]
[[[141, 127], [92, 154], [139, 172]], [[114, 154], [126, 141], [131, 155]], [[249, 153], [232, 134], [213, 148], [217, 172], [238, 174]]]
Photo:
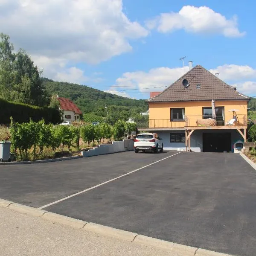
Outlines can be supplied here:
[[82, 194], [82, 193], [84, 193], [84, 192], [87, 192], [87, 191], [89, 191], [89, 190], [96, 189], [96, 188], [99, 187], [99, 186], [105, 185], [105, 184], [110, 183], [111, 181], [114, 181], [114, 180], [118, 180], [118, 179], [120, 179], [120, 178], [122, 178], [122, 177], [125, 177], [125, 176], [127, 176], [127, 175], [130, 175], [131, 173], [138, 172], [138, 171], [140, 171], [141, 169], [144, 169], [144, 168], [146, 168], [146, 167], [148, 167], [148, 166], [151, 166], [151, 165], [153, 165], [153, 164], [155, 164], [155, 163], [159, 163], [159, 162], [161, 162], [161, 161], [163, 161], [163, 160], [166, 160], [166, 159], [168, 159], [168, 158], [170, 158], [170, 157], [173, 157], [173, 156], [175, 156], [175, 155], [177, 155], [177, 154], [180, 154], [180, 152], [178, 152], [178, 153], [176, 153], [176, 154], [173, 154], [173, 155], [171, 155], [171, 156], [169, 156], [169, 157], [165, 157], [165, 158], [163, 158], [163, 159], [160, 159], [160, 160], [158, 160], [158, 161], [156, 161], [156, 162], [154, 162], [154, 163], [150, 163], [150, 164], [148, 164], [148, 165], [146, 165], [146, 166], [143, 166], [143, 167], [141, 167], [141, 168], [139, 168], [139, 169], [136, 169], [136, 170], [134, 170], [134, 171], [125, 173], [125, 174], [123, 174], [123, 175], [120, 175], [120, 176], [118, 176], [118, 177], [116, 177], [116, 178], [113, 178], [113, 179], [111, 179], [111, 180], [107, 180], [107, 181], [105, 181], [105, 182], [102, 182], [102, 183], [100, 183], [100, 184], [98, 184], [98, 185], [96, 185], [96, 186], [90, 187], [90, 188], [88, 188], [88, 189], [84, 189], [84, 190], [82, 190], [82, 191], [80, 191], [80, 192], [77, 192], [77, 193], [75, 193], [75, 194], [73, 194], [73, 195], [69, 195], [69, 196], [67, 196], [67, 197], [61, 198], [61, 199], [59, 199], [59, 200], [57, 200], [57, 201], [54, 201], [54, 202], [52, 202], [52, 203], [50, 203], [50, 204], [46, 204], [46, 205], [44, 205], [44, 206], [38, 207], [38, 209], [44, 209], [44, 208], [49, 207], [49, 206], [51, 206], [51, 205], [53, 205], [53, 204], [57, 204], [57, 203], [59, 203], [59, 202], [62, 202], [62, 201], [64, 201], [64, 200], [67, 200], [67, 199], [69, 199], [69, 198], [73, 198], [73, 197], [76, 196], [76, 195], [80, 195], [80, 194]]

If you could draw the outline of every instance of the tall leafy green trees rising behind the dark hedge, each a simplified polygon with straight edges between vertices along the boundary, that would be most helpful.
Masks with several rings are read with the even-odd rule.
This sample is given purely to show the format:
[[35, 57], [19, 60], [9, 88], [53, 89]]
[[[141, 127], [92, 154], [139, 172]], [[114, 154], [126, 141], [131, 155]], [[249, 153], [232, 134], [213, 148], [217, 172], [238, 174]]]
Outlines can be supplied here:
[[49, 97], [42, 86], [41, 71], [25, 50], [13, 53], [8, 35], [0, 34], [0, 96], [29, 105], [46, 106]]

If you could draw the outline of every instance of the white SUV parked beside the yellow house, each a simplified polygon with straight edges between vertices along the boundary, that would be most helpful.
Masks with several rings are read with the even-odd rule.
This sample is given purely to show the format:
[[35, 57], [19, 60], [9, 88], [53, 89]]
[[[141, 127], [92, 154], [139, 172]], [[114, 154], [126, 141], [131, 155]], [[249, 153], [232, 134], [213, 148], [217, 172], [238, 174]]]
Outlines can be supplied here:
[[155, 133], [145, 133], [138, 134], [136, 139], [134, 139], [134, 151], [138, 153], [139, 150], [146, 151], [151, 150], [158, 153], [158, 150], [163, 152], [163, 142], [162, 139]]

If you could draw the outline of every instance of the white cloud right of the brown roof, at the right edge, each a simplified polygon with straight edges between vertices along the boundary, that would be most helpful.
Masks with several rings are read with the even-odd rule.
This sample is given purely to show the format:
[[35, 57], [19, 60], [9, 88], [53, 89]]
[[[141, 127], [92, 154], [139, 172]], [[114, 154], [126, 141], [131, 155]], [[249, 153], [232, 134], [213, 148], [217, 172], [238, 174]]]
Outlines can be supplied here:
[[214, 75], [219, 73], [219, 78], [224, 81], [241, 81], [256, 78], [256, 69], [247, 65], [225, 64], [211, 69]]

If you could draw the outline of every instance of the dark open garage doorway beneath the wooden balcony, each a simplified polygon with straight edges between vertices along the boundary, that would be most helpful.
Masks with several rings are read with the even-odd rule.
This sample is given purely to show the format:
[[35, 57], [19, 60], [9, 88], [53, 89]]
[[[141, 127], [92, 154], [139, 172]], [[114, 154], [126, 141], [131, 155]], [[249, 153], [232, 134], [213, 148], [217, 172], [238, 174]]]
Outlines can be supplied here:
[[231, 133], [203, 133], [204, 152], [230, 152]]

